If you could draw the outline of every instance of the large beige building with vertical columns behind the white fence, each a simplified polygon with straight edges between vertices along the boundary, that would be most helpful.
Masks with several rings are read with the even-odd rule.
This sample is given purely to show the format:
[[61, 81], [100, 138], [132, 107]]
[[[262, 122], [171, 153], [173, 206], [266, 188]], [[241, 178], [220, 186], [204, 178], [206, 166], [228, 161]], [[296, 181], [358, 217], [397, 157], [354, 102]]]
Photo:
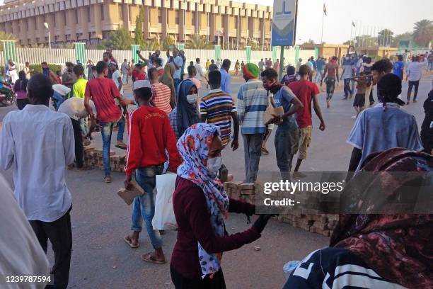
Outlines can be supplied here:
[[145, 40], [170, 36], [184, 42], [199, 34], [224, 49], [270, 45], [272, 7], [225, 0], [6, 0], [0, 6], [0, 30], [21, 45], [48, 44], [48, 29], [54, 47], [96, 45], [120, 27], [134, 37], [142, 7]]

